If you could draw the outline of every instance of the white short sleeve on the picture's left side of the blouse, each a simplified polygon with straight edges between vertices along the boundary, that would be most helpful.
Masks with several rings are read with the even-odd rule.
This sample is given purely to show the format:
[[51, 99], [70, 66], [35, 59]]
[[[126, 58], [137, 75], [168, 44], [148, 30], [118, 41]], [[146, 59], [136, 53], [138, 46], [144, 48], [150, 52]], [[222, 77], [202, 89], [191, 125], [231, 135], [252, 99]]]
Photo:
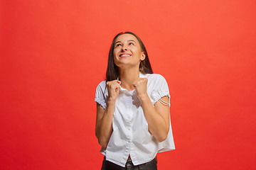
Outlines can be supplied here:
[[106, 89], [106, 81], [102, 81], [97, 85], [96, 93], [95, 93], [95, 102], [99, 103], [102, 108], [107, 107], [107, 89]]

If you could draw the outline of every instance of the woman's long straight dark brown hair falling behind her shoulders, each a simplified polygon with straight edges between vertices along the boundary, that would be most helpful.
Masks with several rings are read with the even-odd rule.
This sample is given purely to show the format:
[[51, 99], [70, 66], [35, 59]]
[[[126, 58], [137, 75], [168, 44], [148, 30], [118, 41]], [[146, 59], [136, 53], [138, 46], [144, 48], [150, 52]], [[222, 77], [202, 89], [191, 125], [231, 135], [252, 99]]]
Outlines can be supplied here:
[[114, 64], [113, 51], [114, 51], [114, 42], [122, 34], [132, 34], [132, 35], [134, 35], [134, 37], [137, 38], [137, 40], [139, 41], [139, 45], [142, 48], [142, 52], [144, 52], [145, 56], [146, 56], [145, 59], [142, 60], [139, 64], [139, 71], [142, 72], [143, 74], [153, 74], [153, 71], [151, 69], [151, 65], [149, 62], [149, 56], [146, 52], [146, 47], [144, 46], [142, 40], [132, 32], [119, 33], [114, 37], [114, 40], [112, 41], [112, 44], [110, 47], [110, 53], [109, 53], [108, 62], [107, 62], [106, 82], [115, 80], [115, 79], [117, 79], [117, 77], [119, 77], [119, 69], [118, 69], [117, 65]]

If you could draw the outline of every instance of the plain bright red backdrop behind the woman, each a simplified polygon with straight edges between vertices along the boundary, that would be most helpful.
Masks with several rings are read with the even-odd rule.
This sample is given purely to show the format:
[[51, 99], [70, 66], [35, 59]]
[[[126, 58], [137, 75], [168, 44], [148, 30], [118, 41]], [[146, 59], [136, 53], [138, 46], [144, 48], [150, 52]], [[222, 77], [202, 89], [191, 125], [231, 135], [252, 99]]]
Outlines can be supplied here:
[[255, 6], [2, 0], [0, 169], [100, 169], [95, 89], [127, 30], [169, 84], [176, 150], [159, 170], [255, 169]]

